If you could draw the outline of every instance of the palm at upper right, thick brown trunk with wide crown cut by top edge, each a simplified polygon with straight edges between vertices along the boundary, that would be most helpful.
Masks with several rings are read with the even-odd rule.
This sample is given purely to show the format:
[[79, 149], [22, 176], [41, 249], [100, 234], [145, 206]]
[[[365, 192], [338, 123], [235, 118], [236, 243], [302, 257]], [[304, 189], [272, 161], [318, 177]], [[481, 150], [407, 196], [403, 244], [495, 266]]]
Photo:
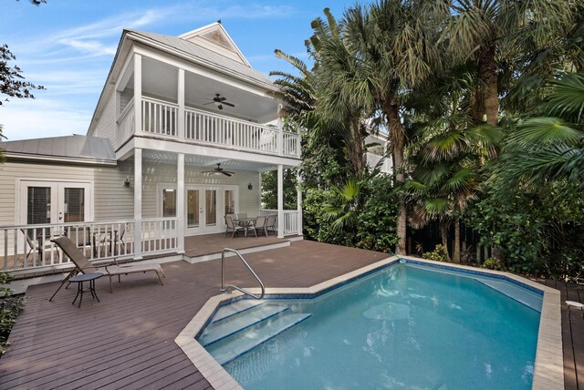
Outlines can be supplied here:
[[[568, 1], [451, 0], [443, 40], [477, 69], [473, 116], [495, 125], [499, 88], [497, 59], [547, 46], [564, 36], [576, 6]], [[578, 2], [576, 2], [578, 3]]]

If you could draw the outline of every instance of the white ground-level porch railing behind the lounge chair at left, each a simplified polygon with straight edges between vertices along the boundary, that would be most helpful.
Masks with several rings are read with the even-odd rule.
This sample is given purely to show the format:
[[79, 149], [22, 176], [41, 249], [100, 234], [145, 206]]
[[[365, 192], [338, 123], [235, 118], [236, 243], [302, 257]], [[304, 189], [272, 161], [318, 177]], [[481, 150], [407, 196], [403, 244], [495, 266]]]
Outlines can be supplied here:
[[[142, 255], [178, 249], [177, 219], [141, 221]], [[99, 221], [0, 227], [0, 269], [20, 272], [69, 266], [67, 256], [50, 240], [67, 236], [89, 261], [131, 258], [135, 254], [135, 221]]]

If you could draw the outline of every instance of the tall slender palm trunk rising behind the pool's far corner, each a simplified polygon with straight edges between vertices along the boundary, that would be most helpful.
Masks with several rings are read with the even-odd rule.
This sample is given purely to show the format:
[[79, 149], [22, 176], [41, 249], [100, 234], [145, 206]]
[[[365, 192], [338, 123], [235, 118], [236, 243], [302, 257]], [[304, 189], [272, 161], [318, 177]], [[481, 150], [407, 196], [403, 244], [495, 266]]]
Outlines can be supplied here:
[[[406, 137], [401, 127], [401, 120], [398, 114], [398, 105], [396, 102], [386, 102], [383, 105], [383, 111], [388, 118], [390, 128], [391, 142], [391, 159], [393, 161], [393, 172], [395, 173], [395, 186], [405, 182], [403, 173], [403, 149], [405, 148]], [[407, 228], [407, 210], [405, 205], [405, 196], [400, 195], [400, 210], [397, 219], [396, 231], [398, 234], [398, 254], [406, 254], [406, 228]]]

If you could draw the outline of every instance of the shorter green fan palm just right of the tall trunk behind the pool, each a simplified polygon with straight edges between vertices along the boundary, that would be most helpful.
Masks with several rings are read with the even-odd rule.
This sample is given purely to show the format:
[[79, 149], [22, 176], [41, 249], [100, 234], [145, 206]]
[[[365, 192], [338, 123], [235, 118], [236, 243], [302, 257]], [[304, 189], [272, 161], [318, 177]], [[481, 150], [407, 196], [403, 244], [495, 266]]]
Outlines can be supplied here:
[[449, 259], [448, 231], [454, 222], [454, 262], [460, 262], [460, 218], [476, 198], [481, 167], [495, 156], [500, 138], [500, 131], [477, 123], [471, 115], [474, 84], [468, 67], [452, 69], [428, 80], [424, 89], [433, 93], [425, 91], [420, 101], [410, 102], [421, 122], [408, 149], [412, 171], [405, 189], [411, 196], [410, 223], [420, 228], [438, 221]]

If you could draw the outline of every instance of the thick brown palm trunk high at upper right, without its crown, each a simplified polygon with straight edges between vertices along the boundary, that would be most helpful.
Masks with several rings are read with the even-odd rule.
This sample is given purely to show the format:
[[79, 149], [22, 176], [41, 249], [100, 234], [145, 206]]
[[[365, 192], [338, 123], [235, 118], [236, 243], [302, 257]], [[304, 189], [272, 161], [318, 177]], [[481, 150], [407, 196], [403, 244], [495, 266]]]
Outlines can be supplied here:
[[[483, 109], [478, 109], [475, 112], [480, 114], [477, 120], [484, 120], [486, 116], [486, 123], [495, 125], [499, 115], [499, 95], [496, 81], [496, 63], [495, 63], [495, 42], [491, 42], [485, 46], [478, 53], [478, 77], [483, 86], [481, 88], [482, 98], [481, 105]], [[481, 112], [482, 111], [482, 112]]]

